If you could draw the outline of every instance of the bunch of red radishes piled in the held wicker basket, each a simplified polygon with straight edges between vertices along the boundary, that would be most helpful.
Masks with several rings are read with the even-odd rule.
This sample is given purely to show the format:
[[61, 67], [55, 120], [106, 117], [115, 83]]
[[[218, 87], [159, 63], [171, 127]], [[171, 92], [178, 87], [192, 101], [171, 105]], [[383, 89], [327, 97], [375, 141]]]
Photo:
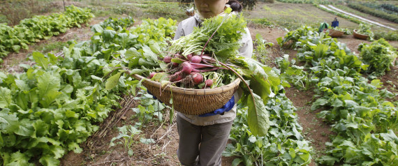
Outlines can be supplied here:
[[[173, 57], [172, 57], [173, 56]], [[172, 56], [164, 56], [163, 61], [167, 63], [168, 70], [165, 73], [168, 75], [167, 79], [172, 84], [179, 84], [184, 88], [198, 88], [198, 84], [201, 84], [204, 80], [202, 73], [215, 71], [220, 68], [212, 65], [214, 59], [207, 55], [192, 55], [189, 54], [186, 57], [180, 54], [172, 54]], [[177, 63], [180, 62], [180, 63]], [[151, 73], [149, 78], [154, 77], [158, 73]], [[162, 73], [164, 74], [164, 73]], [[205, 86], [203, 89], [212, 86], [213, 80], [205, 80]]]

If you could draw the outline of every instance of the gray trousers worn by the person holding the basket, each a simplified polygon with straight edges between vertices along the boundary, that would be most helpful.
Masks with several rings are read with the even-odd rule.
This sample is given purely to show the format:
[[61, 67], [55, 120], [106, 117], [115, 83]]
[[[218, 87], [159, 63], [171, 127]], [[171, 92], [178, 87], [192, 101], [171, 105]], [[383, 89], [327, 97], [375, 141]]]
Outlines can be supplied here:
[[221, 165], [233, 121], [196, 126], [177, 116], [179, 145], [177, 156], [182, 165]]

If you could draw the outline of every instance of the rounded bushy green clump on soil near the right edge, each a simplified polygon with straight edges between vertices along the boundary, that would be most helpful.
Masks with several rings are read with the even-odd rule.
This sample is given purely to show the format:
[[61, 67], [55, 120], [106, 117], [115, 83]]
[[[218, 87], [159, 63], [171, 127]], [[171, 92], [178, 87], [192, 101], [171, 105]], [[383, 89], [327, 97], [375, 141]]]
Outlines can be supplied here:
[[367, 73], [374, 76], [384, 75], [385, 71], [390, 71], [390, 67], [395, 66], [397, 49], [392, 47], [383, 38], [374, 41], [370, 45], [362, 43], [358, 46], [362, 60], [369, 64]]

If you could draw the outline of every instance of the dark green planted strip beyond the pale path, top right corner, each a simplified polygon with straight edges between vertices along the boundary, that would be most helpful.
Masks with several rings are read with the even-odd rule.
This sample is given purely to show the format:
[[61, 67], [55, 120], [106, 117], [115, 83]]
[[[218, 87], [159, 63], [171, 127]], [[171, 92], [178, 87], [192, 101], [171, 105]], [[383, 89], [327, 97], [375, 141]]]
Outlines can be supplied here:
[[381, 10], [374, 10], [374, 8], [369, 8], [367, 6], [364, 6], [360, 3], [348, 3], [348, 6], [350, 8], [353, 8], [355, 10], [359, 10], [363, 13], [367, 13], [369, 15], [373, 15], [376, 17], [381, 17], [385, 20], [390, 20], [392, 22], [398, 23], [398, 15], [393, 15], [393, 14], [389, 14], [389, 13], [385, 13]]

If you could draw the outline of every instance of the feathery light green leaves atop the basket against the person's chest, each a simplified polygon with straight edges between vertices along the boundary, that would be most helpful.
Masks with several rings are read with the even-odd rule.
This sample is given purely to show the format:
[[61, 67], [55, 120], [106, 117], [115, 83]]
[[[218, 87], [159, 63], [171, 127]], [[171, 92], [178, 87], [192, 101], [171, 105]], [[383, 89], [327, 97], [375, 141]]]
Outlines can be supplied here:
[[173, 41], [170, 52], [183, 52], [184, 56], [191, 53], [200, 54], [212, 36], [212, 42], [207, 44], [204, 53], [214, 53], [219, 61], [225, 62], [239, 50], [238, 41], [242, 38], [242, 33], [237, 31], [244, 32], [245, 27], [246, 21], [242, 15], [228, 14], [206, 19], [201, 28], [195, 27], [189, 36]]

